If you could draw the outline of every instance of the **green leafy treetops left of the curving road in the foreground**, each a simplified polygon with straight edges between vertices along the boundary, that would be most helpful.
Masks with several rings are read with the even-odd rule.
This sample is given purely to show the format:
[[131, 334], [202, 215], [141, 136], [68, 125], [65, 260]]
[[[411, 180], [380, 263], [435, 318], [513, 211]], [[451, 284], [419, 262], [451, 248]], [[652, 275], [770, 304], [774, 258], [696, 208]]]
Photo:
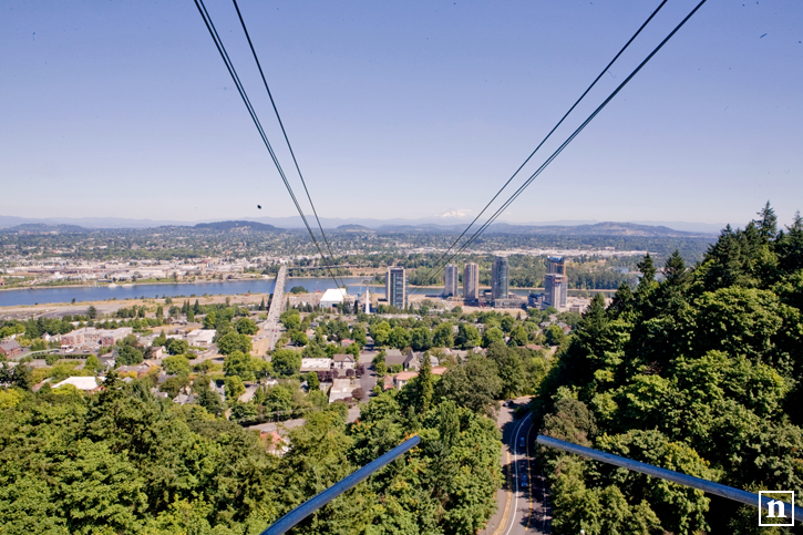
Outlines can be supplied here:
[[500, 431], [484, 404], [452, 401], [465, 398], [454, 381], [435, 391], [424, 368], [357, 423], [342, 402], [308, 412], [281, 457], [202, 405], [154, 398], [147, 378], [112, 373], [89, 397], [0, 390], [0, 534], [257, 534], [412, 434], [422, 442], [404, 459], [294, 533], [474, 533], [496, 507]]

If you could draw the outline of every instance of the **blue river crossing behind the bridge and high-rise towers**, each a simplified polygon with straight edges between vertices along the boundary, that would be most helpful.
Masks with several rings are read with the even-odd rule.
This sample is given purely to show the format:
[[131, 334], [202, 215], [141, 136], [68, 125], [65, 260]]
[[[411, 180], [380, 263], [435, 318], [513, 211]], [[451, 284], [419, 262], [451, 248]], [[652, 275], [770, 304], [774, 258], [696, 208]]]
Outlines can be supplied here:
[[[360, 277], [343, 277], [343, 282], [349, 288], [350, 295], [358, 295], [366, 291], [363, 279]], [[49, 302], [75, 302], [103, 301], [117, 298], [117, 300], [136, 299], [141, 297], [200, 297], [208, 296], [233, 296], [238, 294], [272, 294], [276, 279], [253, 279], [253, 280], [228, 280], [228, 281], [205, 281], [205, 282], [182, 282], [182, 284], [145, 284], [126, 285], [110, 288], [107, 286], [82, 286], [82, 287], [44, 287], [35, 290], [2, 290], [0, 291], [0, 307], [12, 307], [21, 305], [44, 305]], [[326, 291], [334, 288], [334, 281], [330, 278], [288, 278], [285, 291], [294, 286], [303, 286], [309, 291]], [[439, 295], [443, 287], [429, 287], [418, 294]], [[511, 291], [527, 296], [529, 290], [511, 288]], [[371, 294], [384, 296], [384, 286], [372, 286]]]

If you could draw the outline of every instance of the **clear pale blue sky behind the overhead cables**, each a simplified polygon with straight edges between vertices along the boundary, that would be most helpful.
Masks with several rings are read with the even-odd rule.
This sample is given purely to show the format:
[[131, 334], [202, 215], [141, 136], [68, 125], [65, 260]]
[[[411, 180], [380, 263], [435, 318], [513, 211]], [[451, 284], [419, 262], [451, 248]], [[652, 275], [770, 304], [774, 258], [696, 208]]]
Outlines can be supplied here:
[[[476, 214], [658, 3], [240, 8], [319, 215], [421, 218]], [[669, 0], [536, 160], [694, 3]], [[289, 172], [234, 6], [207, 7]], [[770, 199], [789, 223], [801, 41], [799, 0], [709, 0], [502, 219], [743, 225]], [[192, 0], [3, 1], [0, 95], [0, 215], [295, 214]]]

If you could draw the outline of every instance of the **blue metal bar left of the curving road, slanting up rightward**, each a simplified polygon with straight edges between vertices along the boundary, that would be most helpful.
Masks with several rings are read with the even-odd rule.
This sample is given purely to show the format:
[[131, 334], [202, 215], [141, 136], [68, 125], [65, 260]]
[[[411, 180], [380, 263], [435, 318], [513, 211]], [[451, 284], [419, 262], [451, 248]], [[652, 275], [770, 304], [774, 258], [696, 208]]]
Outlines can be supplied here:
[[272, 523], [270, 526], [268, 526], [268, 528], [265, 529], [260, 535], [280, 535], [288, 532], [292, 526], [315, 513], [320, 507], [325, 506], [346, 491], [353, 488], [359, 483], [362, 483], [374, 472], [383, 469], [392, 461], [397, 460], [404, 453], [415, 447], [419, 442], [421, 442], [421, 438], [419, 436], [413, 436], [412, 439], [402, 442], [381, 457], [368, 463], [353, 474], [339, 481], [320, 494], [317, 494], [311, 498], [307, 500], [305, 503], [302, 503], [301, 505]]

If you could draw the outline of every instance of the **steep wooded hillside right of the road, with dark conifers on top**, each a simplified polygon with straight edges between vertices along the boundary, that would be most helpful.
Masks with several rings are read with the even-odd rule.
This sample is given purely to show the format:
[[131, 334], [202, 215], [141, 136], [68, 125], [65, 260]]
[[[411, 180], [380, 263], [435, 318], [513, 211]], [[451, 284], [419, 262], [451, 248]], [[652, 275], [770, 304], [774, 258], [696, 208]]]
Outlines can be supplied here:
[[[803, 219], [768, 206], [702, 263], [648, 257], [635, 291], [601, 298], [558, 354], [533, 410], [542, 432], [759, 490], [803, 491]], [[557, 535], [792, 533], [755, 508], [542, 450]], [[781, 531], [787, 529], [787, 531]]]

